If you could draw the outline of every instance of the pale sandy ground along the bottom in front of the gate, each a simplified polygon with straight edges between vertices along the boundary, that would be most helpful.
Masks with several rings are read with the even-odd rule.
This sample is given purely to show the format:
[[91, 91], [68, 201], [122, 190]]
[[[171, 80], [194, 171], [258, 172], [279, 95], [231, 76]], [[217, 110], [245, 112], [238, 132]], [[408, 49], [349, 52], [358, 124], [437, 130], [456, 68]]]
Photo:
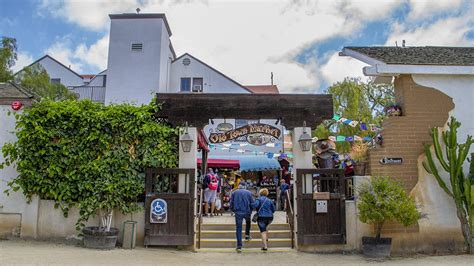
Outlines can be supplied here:
[[360, 255], [194, 253], [164, 248], [90, 250], [41, 241], [0, 240], [0, 265], [473, 265], [474, 256], [416, 256], [369, 261]]

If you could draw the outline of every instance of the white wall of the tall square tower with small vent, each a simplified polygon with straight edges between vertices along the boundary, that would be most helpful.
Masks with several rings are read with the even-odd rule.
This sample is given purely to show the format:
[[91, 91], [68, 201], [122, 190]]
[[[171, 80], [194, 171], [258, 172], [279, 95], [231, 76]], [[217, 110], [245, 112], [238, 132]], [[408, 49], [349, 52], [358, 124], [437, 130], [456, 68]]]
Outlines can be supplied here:
[[[168, 43], [163, 44], [162, 39]], [[143, 50], [132, 52], [132, 42], [143, 43]], [[150, 103], [153, 93], [166, 84], [166, 64], [160, 64], [162, 46], [168, 49], [168, 44], [161, 18], [112, 19], [105, 103]]]

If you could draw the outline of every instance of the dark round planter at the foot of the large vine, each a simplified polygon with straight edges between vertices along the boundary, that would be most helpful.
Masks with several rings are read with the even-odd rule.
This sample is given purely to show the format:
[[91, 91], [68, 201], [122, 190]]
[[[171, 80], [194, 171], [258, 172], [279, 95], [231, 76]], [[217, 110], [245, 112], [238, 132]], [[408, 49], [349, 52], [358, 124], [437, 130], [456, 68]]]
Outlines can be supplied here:
[[117, 243], [118, 229], [110, 228], [105, 232], [99, 230], [97, 226], [84, 227], [84, 246], [93, 249], [114, 249]]

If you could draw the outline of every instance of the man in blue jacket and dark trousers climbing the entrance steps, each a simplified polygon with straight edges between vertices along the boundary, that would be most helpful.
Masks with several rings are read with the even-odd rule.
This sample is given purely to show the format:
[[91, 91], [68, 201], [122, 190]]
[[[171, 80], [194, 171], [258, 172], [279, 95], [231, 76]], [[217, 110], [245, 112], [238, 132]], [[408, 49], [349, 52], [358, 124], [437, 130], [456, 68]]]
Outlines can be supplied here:
[[240, 183], [239, 189], [232, 192], [230, 209], [235, 213], [235, 234], [237, 237], [237, 252], [242, 250], [242, 222], [245, 219], [245, 240], [250, 240], [250, 215], [254, 200], [252, 193], [245, 189], [245, 183]]

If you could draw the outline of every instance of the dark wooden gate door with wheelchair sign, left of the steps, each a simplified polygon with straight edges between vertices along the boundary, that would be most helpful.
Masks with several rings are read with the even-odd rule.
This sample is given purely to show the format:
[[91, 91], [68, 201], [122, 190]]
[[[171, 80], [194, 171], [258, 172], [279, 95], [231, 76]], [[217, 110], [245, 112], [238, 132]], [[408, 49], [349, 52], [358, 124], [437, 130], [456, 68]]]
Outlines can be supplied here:
[[[149, 168], [146, 171], [145, 246], [194, 244], [194, 169]], [[162, 199], [160, 223], [154, 223], [151, 204]], [[163, 202], [163, 201], [161, 201]], [[166, 213], [166, 215], [164, 214]], [[154, 216], [155, 217], [155, 216]], [[165, 218], [166, 217], [166, 221]]]

